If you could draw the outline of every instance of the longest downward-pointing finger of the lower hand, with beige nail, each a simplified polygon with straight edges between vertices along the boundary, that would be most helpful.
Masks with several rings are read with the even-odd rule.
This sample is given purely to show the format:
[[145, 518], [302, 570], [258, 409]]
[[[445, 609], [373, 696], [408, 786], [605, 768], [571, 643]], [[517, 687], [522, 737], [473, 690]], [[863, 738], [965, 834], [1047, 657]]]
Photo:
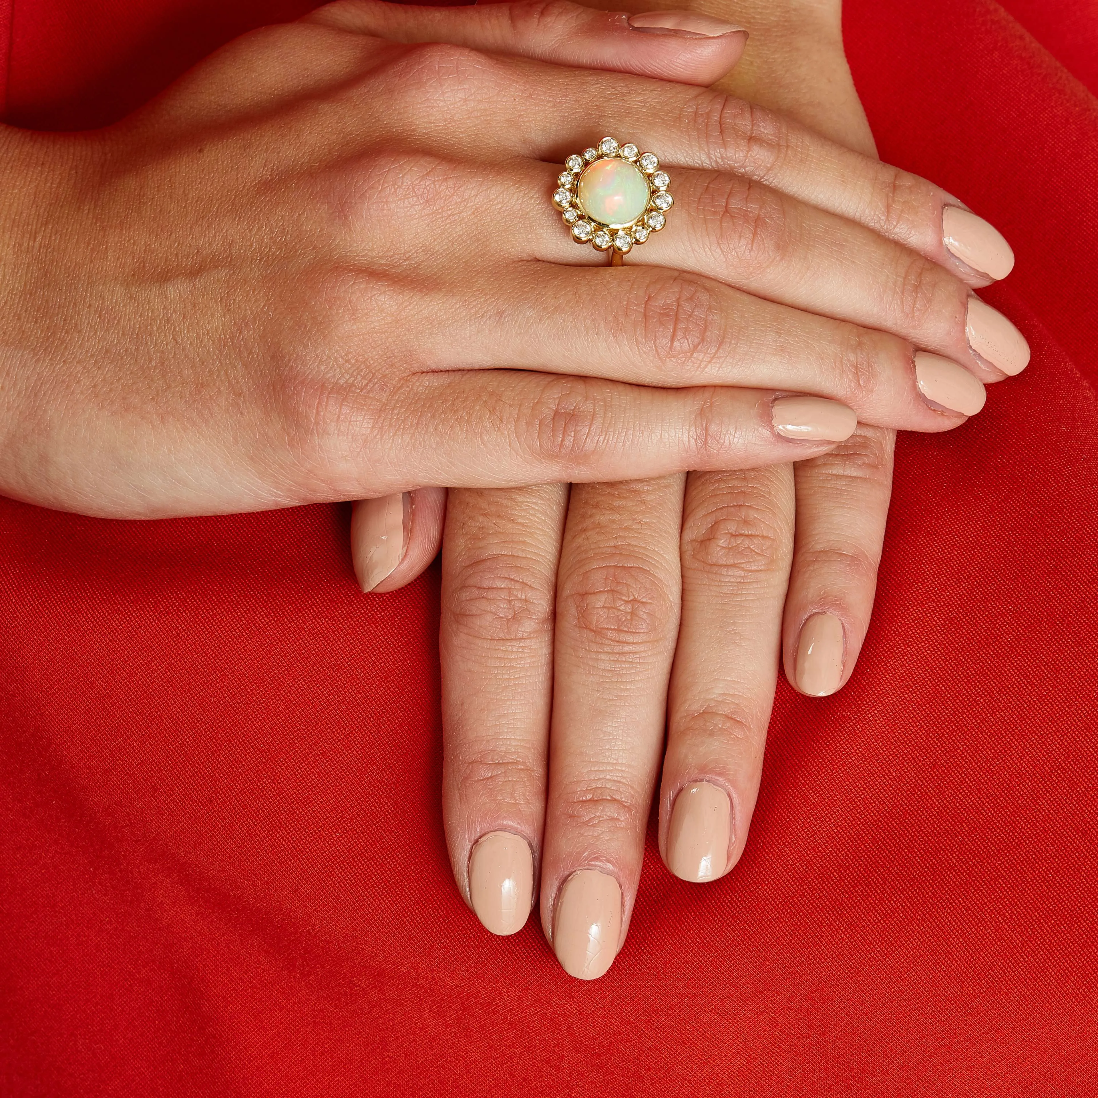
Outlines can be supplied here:
[[569, 975], [625, 940], [679, 627], [681, 477], [575, 486], [557, 592], [541, 921]]

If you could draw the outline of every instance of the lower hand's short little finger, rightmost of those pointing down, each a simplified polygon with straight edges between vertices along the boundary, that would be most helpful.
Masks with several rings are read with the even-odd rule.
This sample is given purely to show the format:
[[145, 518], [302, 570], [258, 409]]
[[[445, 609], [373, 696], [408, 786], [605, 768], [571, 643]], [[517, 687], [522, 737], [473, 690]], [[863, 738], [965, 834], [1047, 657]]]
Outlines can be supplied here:
[[895, 435], [861, 427], [796, 467], [796, 554], [784, 615], [785, 676], [802, 694], [839, 690], [873, 613]]

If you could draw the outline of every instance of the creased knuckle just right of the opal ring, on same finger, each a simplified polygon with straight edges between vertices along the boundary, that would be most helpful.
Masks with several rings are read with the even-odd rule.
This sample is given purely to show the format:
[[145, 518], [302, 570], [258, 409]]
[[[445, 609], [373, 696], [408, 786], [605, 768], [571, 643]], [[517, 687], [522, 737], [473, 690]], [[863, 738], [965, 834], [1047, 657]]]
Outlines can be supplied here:
[[793, 247], [782, 195], [751, 179], [714, 175], [698, 197], [697, 213], [708, 223], [719, 258], [743, 274], [781, 264]]

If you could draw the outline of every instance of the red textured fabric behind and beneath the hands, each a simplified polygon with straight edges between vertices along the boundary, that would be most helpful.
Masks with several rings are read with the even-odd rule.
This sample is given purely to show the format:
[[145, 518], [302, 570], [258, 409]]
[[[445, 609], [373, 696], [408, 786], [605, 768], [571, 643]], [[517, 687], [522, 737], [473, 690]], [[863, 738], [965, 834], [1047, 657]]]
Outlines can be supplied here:
[[[105, 121], [303, 7], [15, 0], [8, 116]], [[1098, 1091], [1098, 9], [1007, 7], [1044, 46], [991, 0], [847, 21], [882, 155], [1015, 245], [1033, 365], [901, 439], [858, 674], [782, 688], [728, 878], [650, 845], [602, 981], [452, 887], [437, 575], [360, 596], [345, 508], [0, 501], [0, 1094]]]

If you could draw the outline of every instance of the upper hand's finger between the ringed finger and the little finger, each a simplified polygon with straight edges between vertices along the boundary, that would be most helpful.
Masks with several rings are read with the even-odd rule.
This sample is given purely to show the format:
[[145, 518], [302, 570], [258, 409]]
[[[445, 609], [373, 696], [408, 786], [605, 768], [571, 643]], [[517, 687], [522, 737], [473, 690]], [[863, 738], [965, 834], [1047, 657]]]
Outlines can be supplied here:
[[[435, 348], [438, 367], [582, 365], [589, 376], [646, 385], [765, 385], [838, 400], [860, 422], [905, 430], [950, 430], [984, 405], [983, 384], [951, 359], [713, 279], [640, 265], [514, 270], [492, 293], [460, 293]], [[492, 324], [495, 338], [485, 340]]]

